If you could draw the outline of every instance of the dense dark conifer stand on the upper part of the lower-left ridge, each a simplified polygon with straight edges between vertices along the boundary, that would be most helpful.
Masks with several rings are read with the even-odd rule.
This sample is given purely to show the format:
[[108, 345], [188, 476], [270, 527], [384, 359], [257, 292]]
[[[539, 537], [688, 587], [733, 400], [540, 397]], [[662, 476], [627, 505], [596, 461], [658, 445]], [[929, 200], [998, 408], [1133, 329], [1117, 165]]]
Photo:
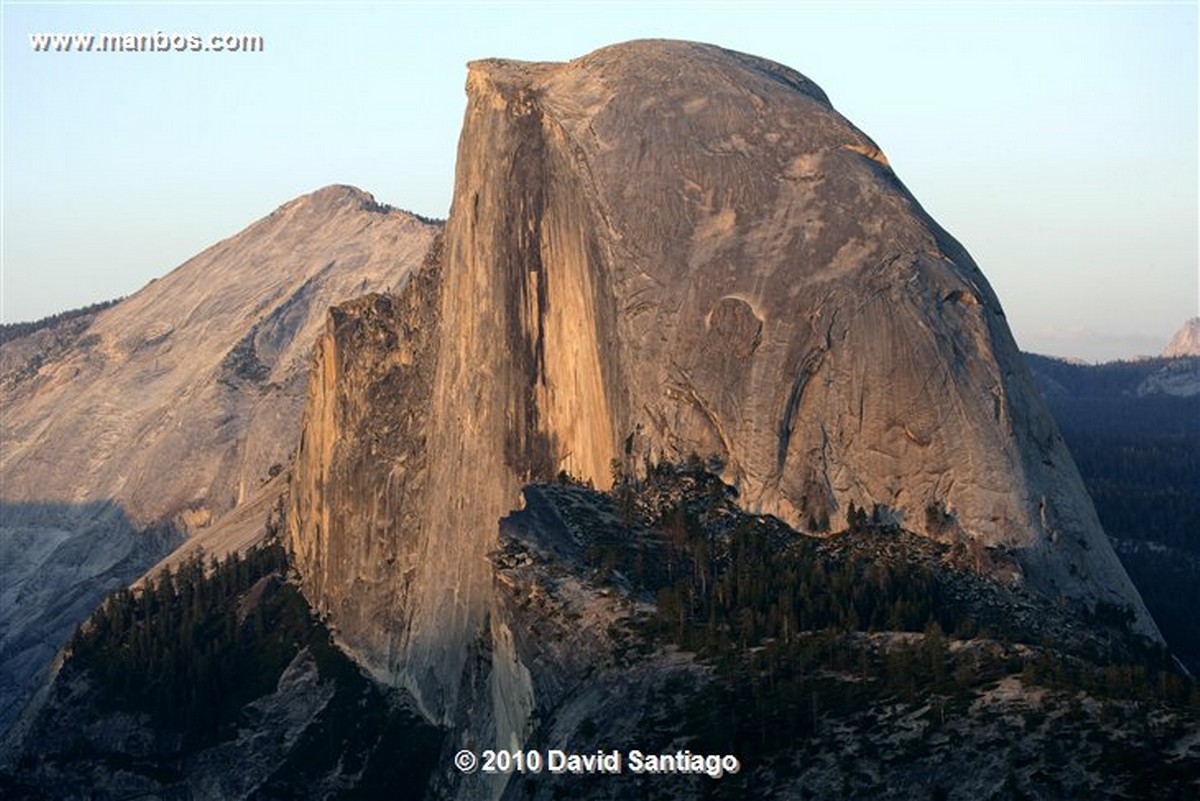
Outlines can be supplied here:
[[256, 546], [208, 565], [196, 555], [139, 590], [118, 590], [76, 631], [70, 664], [98, 680], [108, 709], [215, 741], [244, 704], [274, 689], [307, 638], [307, 606], [283, 589], [286, 564], [278, 543]]

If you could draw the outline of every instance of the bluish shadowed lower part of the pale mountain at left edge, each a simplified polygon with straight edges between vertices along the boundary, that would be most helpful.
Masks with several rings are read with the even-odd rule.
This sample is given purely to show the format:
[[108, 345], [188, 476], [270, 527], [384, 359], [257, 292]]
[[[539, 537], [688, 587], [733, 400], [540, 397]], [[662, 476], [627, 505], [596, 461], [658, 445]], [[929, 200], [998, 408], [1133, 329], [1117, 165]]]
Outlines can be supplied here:
[[181, 541], [170, 524], [136, 526], [114, 501], [0, 502], [0, 733], [74, 627]]

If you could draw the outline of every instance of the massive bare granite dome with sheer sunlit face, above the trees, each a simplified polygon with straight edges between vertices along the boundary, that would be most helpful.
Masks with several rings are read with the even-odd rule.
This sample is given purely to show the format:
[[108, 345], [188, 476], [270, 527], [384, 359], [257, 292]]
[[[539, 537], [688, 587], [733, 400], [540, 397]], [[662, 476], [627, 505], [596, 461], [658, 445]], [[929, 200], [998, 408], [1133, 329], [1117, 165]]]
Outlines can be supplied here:
[[[719, 456], [748, 507], [802, 528], [880, 505], [1009, 549], [1054, 597], [1128, 604], [1157, 636], [991, 288], [811, 82], [648, 41], [473, 62], [467, 95], [422, 301], [430, 383], [389, 418], [425, 416], [419, 468], [406, 453], [350, 478], [371, 488], [353, 500], [365, 528], [320, 528], [304, 504], [292, 522], [310, 597], [433, 719], [452, 718], [485, 631], [484, 556], [522, 483], [566, 470], [604, 487], [614, 458]], [[319, 360], [349, 342], [337, 327]], [[365, 415], [368, 386], [336, 414]], [[301, 493], [334, 492], [322, 482], [362, 458], [336, 436], [314, 450], [331, 414], [310, 406]], [[403, 529], [383, 522], [400, 499]], [[360, 592], [335, 570], [370, 577]]]

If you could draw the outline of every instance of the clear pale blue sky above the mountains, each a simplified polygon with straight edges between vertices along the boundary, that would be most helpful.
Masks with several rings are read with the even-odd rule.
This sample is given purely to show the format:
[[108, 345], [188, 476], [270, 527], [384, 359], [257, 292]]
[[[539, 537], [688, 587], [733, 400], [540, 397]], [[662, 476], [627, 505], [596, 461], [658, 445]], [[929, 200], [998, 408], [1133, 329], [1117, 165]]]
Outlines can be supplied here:
[[[464, 64], [642, 37], [821, 85], [971, 252], [1026, 350], [1198, 314], [1195, 2], [20, 4], [2, 8], [4, 321], [136, 291], [328, 183], [445, 217]], [[252, 32], [262, 53], [35, 53]]]

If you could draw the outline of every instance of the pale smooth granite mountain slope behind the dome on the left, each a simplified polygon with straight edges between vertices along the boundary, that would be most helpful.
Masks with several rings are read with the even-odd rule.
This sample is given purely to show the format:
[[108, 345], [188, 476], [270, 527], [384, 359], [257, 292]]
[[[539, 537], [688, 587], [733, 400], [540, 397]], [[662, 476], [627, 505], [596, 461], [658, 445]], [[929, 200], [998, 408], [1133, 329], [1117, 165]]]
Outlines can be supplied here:
[[[5, 344], [0, 730], [107, 591], [274, 505], [325, 311], [402, 287], [437, 230], [326, 187], [98, 314]], [[227, 520], [214, 541], [264, 522]]]

